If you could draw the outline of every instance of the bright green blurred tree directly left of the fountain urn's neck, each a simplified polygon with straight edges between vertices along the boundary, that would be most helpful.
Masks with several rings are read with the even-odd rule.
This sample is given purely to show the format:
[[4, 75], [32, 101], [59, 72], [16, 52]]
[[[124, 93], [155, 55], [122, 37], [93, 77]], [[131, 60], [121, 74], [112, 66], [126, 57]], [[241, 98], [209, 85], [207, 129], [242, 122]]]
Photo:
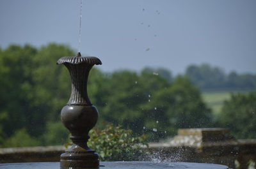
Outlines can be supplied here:
[[71, 93], [71, 80], [67, 68], [56, 65], [60, 57], [72, 56], [75, 52], [65, 45], [50, 43], [38, 50], [33, 57], [35, 69], [35, 101], [38, 114], [46, 121], [59, 121], [61, 108], [67, 104]]

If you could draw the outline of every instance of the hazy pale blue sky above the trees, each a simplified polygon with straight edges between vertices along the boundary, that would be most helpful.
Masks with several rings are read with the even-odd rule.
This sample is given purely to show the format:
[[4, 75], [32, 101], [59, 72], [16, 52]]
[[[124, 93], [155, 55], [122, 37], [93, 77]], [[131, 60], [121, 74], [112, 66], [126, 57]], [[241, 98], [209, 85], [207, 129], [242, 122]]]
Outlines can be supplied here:
[[[0, 47], [56, 42], [77, 50], [79, 5], [1, 0]], [[256, 1], [83, 0], [81, 53], [99, 57], [103, 71], [153, 66], [176, 74], [207, 62], [256, 73]]]

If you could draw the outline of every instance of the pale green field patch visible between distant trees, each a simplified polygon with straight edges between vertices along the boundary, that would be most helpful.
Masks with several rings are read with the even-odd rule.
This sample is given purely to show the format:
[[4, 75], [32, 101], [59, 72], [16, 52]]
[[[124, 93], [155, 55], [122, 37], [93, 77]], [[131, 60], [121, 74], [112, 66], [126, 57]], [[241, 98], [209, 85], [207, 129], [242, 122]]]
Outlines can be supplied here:
[[212, 109], [214, 114], [219, 114], [225, 100], [228, 100], [231, 93], [246, 93], [250, 91], [203, 91], [202, 98], [206, 105]]

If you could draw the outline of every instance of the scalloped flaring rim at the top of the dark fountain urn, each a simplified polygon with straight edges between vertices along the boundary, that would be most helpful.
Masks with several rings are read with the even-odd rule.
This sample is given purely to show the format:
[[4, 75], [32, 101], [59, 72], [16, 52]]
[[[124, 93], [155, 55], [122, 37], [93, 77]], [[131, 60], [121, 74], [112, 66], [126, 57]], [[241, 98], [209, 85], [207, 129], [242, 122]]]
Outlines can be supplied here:
[[87, 64], [102, 64], [99, 58], [93, 57], [93, 56], [87, 56], [87, 57], [80, 57], [80, 56], [64, 56], [61, 57], [58, 61], [57, 64], [65, 64], [65, 63], [70, 63], [70, 64], [81, 64], [81, 63], [87, 63]]

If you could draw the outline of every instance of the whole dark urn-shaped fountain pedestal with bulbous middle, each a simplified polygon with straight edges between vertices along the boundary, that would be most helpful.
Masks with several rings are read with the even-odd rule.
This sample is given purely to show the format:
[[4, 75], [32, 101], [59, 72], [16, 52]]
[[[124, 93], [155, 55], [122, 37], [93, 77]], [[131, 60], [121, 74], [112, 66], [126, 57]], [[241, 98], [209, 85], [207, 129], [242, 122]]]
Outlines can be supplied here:
[[60, 166], [64, 168], [99, 168], [99, 154], [87, 146], [88, 133], [98, 119], [98, 110], [87, 94], [87, 80], [94, 64], [102, 64], [97, 57], [61, 57], [57, 64], [64, 64], [72, 80], [70, 99], [61, 110], [61, 121], [70, 131], [73, 145], [61, 154]]

